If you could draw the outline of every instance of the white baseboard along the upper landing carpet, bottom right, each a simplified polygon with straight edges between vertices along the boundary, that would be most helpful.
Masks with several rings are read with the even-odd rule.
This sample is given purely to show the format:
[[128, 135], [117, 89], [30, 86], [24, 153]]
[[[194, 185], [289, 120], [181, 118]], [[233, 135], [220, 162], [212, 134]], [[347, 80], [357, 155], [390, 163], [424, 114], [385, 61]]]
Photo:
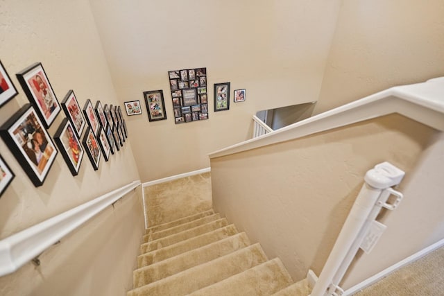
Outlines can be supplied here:
[[443, 247], [443, 246], [444, 246], [444, 238], [441, 241], [438, 241], [437, 243], [434, 243], [433, 245], [429, 245], [429, 247], [426, 247], [425, 249], [422, 249], [419, 252], [416, 252], [415, 254], [407, 257], [406, 259], [391, 265], [390, 267], [382, 270], [381, 272], [378, 272], [376, 275], [373, 275], [373, 277], [369, 277], [365, 281], [362, 281], [361, 283], [359, 283], [355, 286], [352, 286], [352, 288], [345, 290], [343, 295], [344, 296], [353, 295], [353, 294], [359, 292], [360, 290], [363, 290], [364, 288], [366, 288], [372, 284], [375, 284], [380, 279], [387, 277], [392, 272], [395, 272], [396, 270], [404, 267], [405, 265], [412, 263], [413, 261], [416, 261], [416, 260], [422, 258], [423, 256], [425, 256], [425, 255], [427, 255], [427, 254], [433, 252], [434, 250], [437, 250], [438, 248]]

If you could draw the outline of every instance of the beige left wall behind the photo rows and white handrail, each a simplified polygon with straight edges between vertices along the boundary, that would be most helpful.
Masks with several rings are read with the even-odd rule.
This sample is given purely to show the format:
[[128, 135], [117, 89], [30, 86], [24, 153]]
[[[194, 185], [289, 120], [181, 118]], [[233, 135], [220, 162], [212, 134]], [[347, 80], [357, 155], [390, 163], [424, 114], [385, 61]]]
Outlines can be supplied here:
[[[1, 107], [0, 124], [28, 103], [15, 73], [34, 62], [42, 62], [59, 102], [69, 89], [74, 89], [82, 107], [87, 98], [94, 103], [101, 100], [117, 104], [88, 1], [8, 0], [1, 1], [0, 11], [0, 59], [19, 91]], [[61, 112], [51, 125], [51, 136], [64, 117]], [[130, 141], [132, 137], [135, 135], [130, 135]], [[130, 141], [109, 162], [101, 159], [99, 171], [94, 171], [84, 155], [76, 177], [59, 153], [44, 185], [36, 188], [0, 140], [1, 156], [16, 175], [0, 198], [0, 238], [139, 180]], [[107, 287], [110, 290], [105, 294], [122, 295], [123, 287], [131, 284], [130, 265], [135, 264], [144, 228], [140, 207], [138, 195], [128, 195], [121, 206], [106, 209], [85, 228], [45, 252], [41, 268], [28, 263], [15, 274], [2, 277], [0, 294], [69, 295], [72, 291], [71, 295], [99, 295], [89, 291]], [[127, 217], [129, 210], [133, 213]], [[108, 249], [107, 243], [113, 246]], [[111, 261], [116, 263], [112, 268]], [[65, 287], [57, 286], [58, 281]]]

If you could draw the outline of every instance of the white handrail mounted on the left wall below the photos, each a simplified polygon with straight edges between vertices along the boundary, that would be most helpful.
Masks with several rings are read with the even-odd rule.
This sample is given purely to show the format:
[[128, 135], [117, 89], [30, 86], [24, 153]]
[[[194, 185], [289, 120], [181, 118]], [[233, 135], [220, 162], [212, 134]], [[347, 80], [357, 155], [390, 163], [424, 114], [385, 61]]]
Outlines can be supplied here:
[[15, 272], [51, 245], [140, 185], [122, 186], [0, 241], [0, 277]]

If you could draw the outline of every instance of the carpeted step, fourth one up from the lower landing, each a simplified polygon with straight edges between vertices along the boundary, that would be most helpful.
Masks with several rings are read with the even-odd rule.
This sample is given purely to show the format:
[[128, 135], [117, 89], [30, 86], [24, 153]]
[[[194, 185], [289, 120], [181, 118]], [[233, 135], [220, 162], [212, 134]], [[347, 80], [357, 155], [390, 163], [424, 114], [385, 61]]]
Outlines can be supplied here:
[[200, 236], [194, 236], [186, 241], [180, 241], [179, 243], [162, 247], [159, 250], [154, 250], [151, 252], [144, 252], [144, 250], [141, 250], [141, 252], [144, 254], [137, 257], [137, 268], [142, 268], [146, 265], [160, 262], [170, 257], [177, 256], [178, 254], [194, 250], [198, 247], [203, 247], [204, 245], [214, 243], [215, 241], [220, 241], [223, 238], [230, 237], [237, 233], [237, 229], [234, 227], [234, 225], [228, 225], [213, 230], [212, 232], [200, 234]]

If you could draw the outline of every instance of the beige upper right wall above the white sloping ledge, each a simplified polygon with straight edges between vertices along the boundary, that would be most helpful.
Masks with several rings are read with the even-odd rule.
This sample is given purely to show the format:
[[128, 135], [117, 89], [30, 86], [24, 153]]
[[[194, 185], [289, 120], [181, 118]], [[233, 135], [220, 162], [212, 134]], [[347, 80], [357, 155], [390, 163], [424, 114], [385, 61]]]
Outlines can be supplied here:
[[314, 114], [444, 76], [441, 0], [343, 0]]

